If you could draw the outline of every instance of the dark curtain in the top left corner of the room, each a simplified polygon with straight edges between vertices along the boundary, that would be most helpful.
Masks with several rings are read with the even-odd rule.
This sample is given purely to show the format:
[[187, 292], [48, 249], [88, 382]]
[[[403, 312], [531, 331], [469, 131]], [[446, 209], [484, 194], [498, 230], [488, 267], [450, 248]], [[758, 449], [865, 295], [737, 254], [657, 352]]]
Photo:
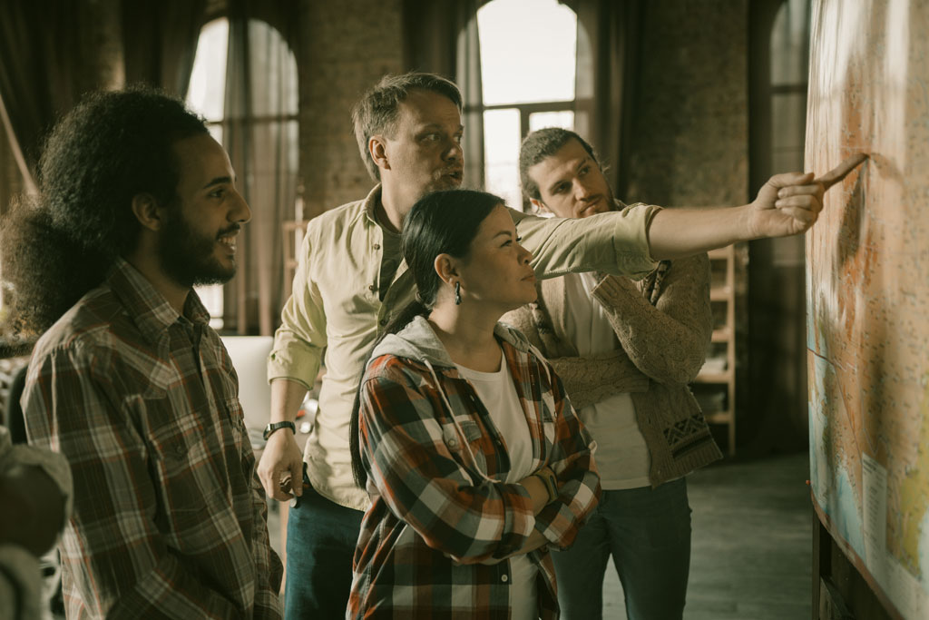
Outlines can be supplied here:
[[46, 132], [83, 91], [85, 17], [77, 2], [0, 2], [0, 115], [27, 191]]

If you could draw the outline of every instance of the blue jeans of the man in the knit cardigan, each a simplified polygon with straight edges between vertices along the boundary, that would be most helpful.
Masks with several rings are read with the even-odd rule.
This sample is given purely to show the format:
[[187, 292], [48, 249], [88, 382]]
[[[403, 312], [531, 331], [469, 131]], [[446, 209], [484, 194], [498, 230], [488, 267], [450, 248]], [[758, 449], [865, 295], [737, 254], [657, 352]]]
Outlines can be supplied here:
[[609, 555], [622, 582], [629, 620], [680, 620], [690, 571], [687, 482], [604, 491], [565, 551], [552, 553], [562, 620], [603, 617]]

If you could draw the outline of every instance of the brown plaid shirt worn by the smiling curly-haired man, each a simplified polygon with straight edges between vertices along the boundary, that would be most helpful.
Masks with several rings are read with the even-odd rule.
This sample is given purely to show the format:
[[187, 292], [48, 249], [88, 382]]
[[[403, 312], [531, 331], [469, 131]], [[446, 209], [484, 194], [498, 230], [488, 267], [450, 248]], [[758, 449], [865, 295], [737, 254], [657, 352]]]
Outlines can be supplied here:
[[192, 291], [184, 316], [119, 259], [35, 347], [30, 442], [65, 455], [69, 618], [280, 618], [281, 561], [238, 377]]

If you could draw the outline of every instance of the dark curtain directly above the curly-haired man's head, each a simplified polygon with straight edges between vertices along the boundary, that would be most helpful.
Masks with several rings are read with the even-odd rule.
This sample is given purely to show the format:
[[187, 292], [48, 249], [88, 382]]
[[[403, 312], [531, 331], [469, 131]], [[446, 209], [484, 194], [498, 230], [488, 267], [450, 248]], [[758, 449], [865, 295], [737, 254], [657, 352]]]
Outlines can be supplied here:
[[206, 0], [123, 0], [125, 82], [160, 86], [183, 99], [206, 19]]

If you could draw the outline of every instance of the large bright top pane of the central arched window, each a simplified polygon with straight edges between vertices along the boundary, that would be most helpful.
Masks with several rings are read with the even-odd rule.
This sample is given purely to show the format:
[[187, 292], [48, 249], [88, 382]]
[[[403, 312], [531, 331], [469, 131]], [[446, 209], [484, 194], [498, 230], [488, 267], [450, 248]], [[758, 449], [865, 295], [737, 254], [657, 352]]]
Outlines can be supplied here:
[[478, 10], [484, 105], [574, 99], [577, 16], [556, 0], [493, 0]]

